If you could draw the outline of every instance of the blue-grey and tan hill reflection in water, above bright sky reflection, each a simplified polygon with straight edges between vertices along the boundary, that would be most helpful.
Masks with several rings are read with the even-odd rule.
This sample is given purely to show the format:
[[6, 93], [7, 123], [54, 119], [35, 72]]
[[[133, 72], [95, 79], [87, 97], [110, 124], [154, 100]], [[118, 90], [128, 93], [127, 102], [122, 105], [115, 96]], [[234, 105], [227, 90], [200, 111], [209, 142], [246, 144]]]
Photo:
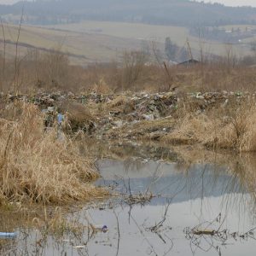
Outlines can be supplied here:
[[[152, 204], [195, 200], [202, 197], [244, 193], [243, 184], [236, 175], [216, 166], [191, 166], [188, 171], [177, 170], [176, 164], [148, 161], [142, 166], [130, 166], [117, 160], [99, 161], [102, 179], [97, 183], [108, 185], [119, 183], [117, 189], [125, 192], [130, 187], [132, 194], [148, 190], [159, 198]], [[125, 184], [125, 185], [124, 185]]]

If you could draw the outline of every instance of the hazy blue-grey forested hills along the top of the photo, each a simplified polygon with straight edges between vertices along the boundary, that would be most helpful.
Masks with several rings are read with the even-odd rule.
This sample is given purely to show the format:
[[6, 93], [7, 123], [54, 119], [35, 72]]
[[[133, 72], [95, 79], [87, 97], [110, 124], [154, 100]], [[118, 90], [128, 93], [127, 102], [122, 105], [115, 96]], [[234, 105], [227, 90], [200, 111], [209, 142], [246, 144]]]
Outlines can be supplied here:
[[[0, 5], [2, 20], [20, 15], [23, 3]], [[189, 0], [37, 0], [25, 2], [25, 22], [35, 25], [81, 20], [142, 22], [175, 26], [256, 24], [256, 9]], [[12, 20], [15, 21], [15, 20]], [[16, 20], [17, 21], [17, 20]]]

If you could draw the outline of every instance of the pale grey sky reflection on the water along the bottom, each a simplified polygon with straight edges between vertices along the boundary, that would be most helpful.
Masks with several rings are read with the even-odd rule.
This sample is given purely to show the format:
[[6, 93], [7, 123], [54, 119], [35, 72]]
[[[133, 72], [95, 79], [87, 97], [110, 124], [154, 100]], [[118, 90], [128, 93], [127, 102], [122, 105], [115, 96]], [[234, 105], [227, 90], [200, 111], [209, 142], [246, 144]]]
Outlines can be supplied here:
[[[245, 200], [249, 199], [245, 195]], [[197, 199], [195, 201], [184, 201], [182, 203], [172, 204], [167, 211], [166, 221], [160, 228], [160, 235], [166, 241], [162, 241], [157, 234], [150, 232], [147, 228], [159, 223], [166, 211], [166, 206], [140, 205], [131, 208], [127, 205], [121, 205], [114, 209], [106, 209], [104, 211], [98, 209], [82, 210], [75, 212], [73, 217], [81, 224], [86, 225], [89, 220], [90, 224], [96, 227], [108, 226], [108, 232], [98, 232], [92, 236], [85, 249], [75, 249], [73, 245], [84, 245], [87, 241], [87, 234], [82, 239], [67, 236], [65, 242], [56, 245], [50, 237], [48, 243], [41, 248], [42, 255], [99, 255], [99, 256], [148, 256], [148, 255], [174, 255], [174, 256], [217, 256], [218, 253], [214, 248], [209, 247], [203, 239], [200, 246], [207, 252], [190, 244], [190, 240], [185, 239], [184, 229], [186, 227], [193, 228], [195, 225], [205, 221], [212, 222], [222, 212], [221, 226], [217, 222], [206, 224], [208, 230], [227, 229], [231, 232], [238, 231], [243, 234], [253, 227], [253, 221], [248, 218], [247, 214], [239, 213], [239, 206], [223, 209], [221, 207], [222, 197], [206, 198], [204, 200]], [[130, 214], [130, 218], [129, 218]], [[118, 227], [119, 223], [119, 234]], [[119, 253], [117, 253], [119, 237]], [[26, 238], [27, 239], [27, 238]], [[20, 239], [18, 247], [21, 250], [26, 248], [27, 240]], [[28, 238], [35, 240], [35, 236]], [[207, 239], [211, 239], [207, 237]], [[68, 241], [72, 241], [69, 243]], [[221, 247], [223, 256], [241, 256], [254, 255], [256, 241], [253, 239], [235, 241], [232, 237], [228, 238], [223, 245], [221, 241], [211, 240], [213, 245]], [[195, 254], [191, 253], [191, 248], [195, 250]], [[34, 247], [29, 247], [29, 250]], [[86, 253], [86, 250], [87, 253]], [[154, 250], [155, 253], [151, 251]], [[170, 250], [170, 251], [169, 251]], [[169, 253], [168, 253], [169, 252]], [[66, 253], [66, 254], [65, 254]], [[82, 254], [84, 253], [84, 254]], [[29, 254], [29, 253], [27, 253]], [[21, 255], [21, 253], [18, 255]], [[30, 254], [29, 254], [30, 255]], [[40, 254], [41, 255], [41, 254]]]

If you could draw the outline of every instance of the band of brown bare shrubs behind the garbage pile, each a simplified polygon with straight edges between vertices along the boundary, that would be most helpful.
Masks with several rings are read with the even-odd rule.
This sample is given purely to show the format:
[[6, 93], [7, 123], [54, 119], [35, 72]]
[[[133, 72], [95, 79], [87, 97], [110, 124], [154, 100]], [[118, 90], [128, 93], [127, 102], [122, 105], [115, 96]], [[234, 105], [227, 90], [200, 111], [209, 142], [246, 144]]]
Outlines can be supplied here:
[[[155, 61], [154, 54], [124, 52], [119, 61], [73, 66], [61, 47], [45, 53], [30, 49], [18, 63], [0, 53], [1, 90], [32, 93], [41, 91], [95, 91], [100, 94], [124, 91], [179, 92], [248, 90], [255, 88], [255, 67], [242, 60], [236, 65], [225, 59], [191, 65], [169, 65]], [[163, 59], [164, 60], [164, 59]], [[164, 64], [163, 64], [164, 63]], [[16, 75], [16, 77], [15, 77]], [[15, 77], [15, 80], [14, 80]]]

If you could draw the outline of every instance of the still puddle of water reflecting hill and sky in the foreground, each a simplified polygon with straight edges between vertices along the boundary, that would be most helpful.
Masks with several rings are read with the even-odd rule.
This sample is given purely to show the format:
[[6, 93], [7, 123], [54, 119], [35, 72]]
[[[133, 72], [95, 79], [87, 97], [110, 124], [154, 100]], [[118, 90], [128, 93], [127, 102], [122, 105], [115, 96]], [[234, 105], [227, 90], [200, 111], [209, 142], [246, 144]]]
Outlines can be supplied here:
[[[43, 241], [38, 230], [20, 229], [1, 255], [253, 254], [255, 194], [241, 170], [213, 164], [185, 168], [141, 158], [103, 159], [97, 166], [102, 179], [96, 184], [114, 188], [121, 199], [67, 217], [81, 226], [93, 224], [96, 231], [68, 233], [61, 239], [47, 236]], [[152, 198], [124, 201], [137, 195]]]

